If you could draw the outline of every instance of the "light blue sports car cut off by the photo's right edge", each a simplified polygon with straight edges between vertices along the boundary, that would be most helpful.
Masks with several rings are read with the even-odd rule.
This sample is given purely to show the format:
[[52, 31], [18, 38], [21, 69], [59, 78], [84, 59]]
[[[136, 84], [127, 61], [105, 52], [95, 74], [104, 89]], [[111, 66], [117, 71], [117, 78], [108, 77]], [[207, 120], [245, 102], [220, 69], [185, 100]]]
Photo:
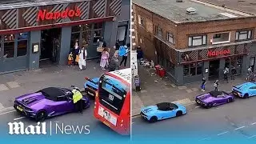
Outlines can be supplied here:
[[240, 98], [256, 96], [256, 82], [246, 82], [242, 85], [233, 86], [232, 93]]

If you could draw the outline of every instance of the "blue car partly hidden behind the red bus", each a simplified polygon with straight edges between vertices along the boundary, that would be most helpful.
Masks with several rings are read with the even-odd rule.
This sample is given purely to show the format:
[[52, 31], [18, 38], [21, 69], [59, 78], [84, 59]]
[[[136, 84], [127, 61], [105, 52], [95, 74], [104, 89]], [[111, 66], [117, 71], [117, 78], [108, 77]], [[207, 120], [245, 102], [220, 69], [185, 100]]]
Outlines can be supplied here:
[[84, 84], [86, 94], [95, 97], [98, 91], [99, 78], [85, 78], [86, 82]]

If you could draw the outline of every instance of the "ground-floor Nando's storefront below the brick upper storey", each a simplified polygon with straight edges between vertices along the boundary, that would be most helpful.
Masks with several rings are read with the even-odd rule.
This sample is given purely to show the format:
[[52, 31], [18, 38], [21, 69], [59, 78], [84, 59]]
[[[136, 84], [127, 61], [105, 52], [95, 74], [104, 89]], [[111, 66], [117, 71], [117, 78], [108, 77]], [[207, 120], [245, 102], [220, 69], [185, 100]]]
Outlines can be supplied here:
[[156, 42], [157, 54], [162, 55], [158, 62], [166, 68], [166, 74], [178, 85], [200, 82], [203, 76], [208, 80], [223, 79], [225, 67], [231, 69], [234, 66], [238, 75], [246, 74], [249, 66], [255, 70], [256, 43], [253, 41], [186, 50], [174, 50], [157, 38]]

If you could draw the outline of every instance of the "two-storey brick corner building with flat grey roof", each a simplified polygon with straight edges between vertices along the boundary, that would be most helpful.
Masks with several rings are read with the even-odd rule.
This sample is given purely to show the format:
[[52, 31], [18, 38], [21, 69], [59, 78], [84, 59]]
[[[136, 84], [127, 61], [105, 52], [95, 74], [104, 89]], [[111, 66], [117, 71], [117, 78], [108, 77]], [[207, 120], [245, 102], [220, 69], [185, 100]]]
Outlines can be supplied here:
[[178, 85], [255, 70], [254, 14], [197, 0], [134, 0], [133, 12], [136, 46]]

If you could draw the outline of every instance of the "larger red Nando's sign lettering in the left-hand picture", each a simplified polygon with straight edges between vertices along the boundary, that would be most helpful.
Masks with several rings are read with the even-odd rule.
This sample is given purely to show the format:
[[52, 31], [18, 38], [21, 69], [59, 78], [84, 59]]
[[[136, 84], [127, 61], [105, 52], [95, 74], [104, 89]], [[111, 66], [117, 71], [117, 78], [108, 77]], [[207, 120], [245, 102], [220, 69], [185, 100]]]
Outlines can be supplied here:
[[80, 17], [80, 16], [81, 16], [81, 10], [78, 8], [75, 10], [66, 9], [63, 11], [55, 11], [55, 12], [47, 12], [47, 10], [38, 10], [37, 21], [52, 20], [52, 19], [58, 19], [58, 18], [73, 18], [73, 17]]

